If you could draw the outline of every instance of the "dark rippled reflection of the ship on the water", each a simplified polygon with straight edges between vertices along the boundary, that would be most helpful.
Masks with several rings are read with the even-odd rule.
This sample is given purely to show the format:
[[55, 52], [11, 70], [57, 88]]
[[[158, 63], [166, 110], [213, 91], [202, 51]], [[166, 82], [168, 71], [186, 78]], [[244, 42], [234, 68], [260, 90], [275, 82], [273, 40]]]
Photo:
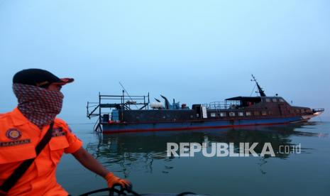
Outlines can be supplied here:
[[[94, 154], [105, 165], [111, 165], [116, 170], [124, 171], [128, 175], [130, 170], [144, 170], [153, 172], [155, 160], [164, 161], [164, 173], [167, 173], [173, 165], [170, 163], [175, 158], [167, 157], [167, 142], [182, 143], [205, 141], [216, 143], [271, 143], [276, 158], [289, 158], [290, 153], [281, 153], [280, 146], [296, 146], [292, 142], [292, 136], [317, 137], [313, 132], [299, 131], [306, 128], [307, 124], [292, 124], [290, 126], [258, 126], [240, 129], [167, 131], [167, 132], [143, 132], [135, 134], [111, 134], [99, 135], [99, 143], [89, 143], [87, 150]], [[254, 150], [260, 154], [263, 146], [257, 146]], [[237, 149], [238, 151], [238, 149]], [[302, 146], [302, 153], [306, 149]], [[268, 158], [265, 156], [265, 158]], [[262, 160], [265, 163], [265, 160]], [[260, 163], [262, 165], [263, 163]]]

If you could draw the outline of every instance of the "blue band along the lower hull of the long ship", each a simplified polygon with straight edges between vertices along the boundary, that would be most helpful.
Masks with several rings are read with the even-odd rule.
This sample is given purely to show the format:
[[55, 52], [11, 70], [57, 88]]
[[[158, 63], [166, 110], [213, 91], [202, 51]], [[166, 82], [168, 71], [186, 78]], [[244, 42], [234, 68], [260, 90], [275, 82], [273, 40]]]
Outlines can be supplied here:
[[221, 128], [227, 126], [251, 126], [258, 124], [286, 124], [294, 121], [301, 121], [301, 116], [272, 118], [272, 119], [236, 119], [236, 120], [211, 120], [211, 121], [185, 121], [185, 122], [159, 122], [141, 124], [103, 124], [105, 133], [125, 131], [161, 131], [180, 129], [207, 129]]

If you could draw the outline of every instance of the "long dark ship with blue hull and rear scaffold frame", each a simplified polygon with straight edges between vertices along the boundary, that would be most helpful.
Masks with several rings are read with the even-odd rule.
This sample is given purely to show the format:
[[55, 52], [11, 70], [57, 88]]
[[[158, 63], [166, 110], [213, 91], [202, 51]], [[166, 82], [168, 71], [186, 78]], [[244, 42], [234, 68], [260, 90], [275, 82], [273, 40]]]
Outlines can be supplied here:
[[231, 97], [224, 102], [187, 104], [150, 96], [131, 96], [123, 88], [121, 95], [99, 93], [99, 102], [87, 102], [87, 117], [98, 117], [95, 131], [104, 134], [138, 131], [180, 131], [194, 129], [221, 129], [236, 126], [292, 124], [309, 121], [324, 112], [323, 108], [311, 109], [289, 104], [284, 98], [267, 96], [255, 77], [258, 95]]

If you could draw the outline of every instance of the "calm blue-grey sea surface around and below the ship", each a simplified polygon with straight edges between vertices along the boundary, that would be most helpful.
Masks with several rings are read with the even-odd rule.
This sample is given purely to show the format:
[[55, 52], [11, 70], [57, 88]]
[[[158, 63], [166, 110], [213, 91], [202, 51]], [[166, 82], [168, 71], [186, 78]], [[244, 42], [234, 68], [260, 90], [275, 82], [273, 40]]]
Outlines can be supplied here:
[[[207, 195], [330, 195], [330, 122], [244, 129], [95, 134], [92, 124], [72, 124], [89, 153], [109, 170], [146, 192]], [[270, 142], [275, 157], [167, 157], [167, 142]], [[280, 153], [280, 146], [301, 153]], [[210, 150], [211, 148], [209, 148]], [[105, 181], [65, 155], [57, 180], [72, 195], [106, 187]]]

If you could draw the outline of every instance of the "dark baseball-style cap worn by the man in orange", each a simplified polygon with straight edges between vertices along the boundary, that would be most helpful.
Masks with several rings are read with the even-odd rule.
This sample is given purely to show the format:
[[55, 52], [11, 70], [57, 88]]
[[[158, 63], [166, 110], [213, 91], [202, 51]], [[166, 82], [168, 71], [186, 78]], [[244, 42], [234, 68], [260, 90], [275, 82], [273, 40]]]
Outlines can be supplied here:
[[13, 83], [37, 87], [48, 87], [50, 84], [66, 85], [73, 81], [73, 78], [59, 78], [51, 72], [40, 69], [21, 70], [13, 76]]

